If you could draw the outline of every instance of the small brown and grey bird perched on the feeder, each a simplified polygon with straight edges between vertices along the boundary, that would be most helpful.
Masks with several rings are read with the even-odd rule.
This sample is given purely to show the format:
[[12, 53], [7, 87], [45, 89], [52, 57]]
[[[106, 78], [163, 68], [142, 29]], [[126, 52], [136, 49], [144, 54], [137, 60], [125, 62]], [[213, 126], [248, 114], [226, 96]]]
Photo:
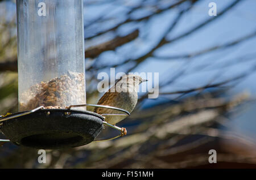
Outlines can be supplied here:
[[[138, 102], [139, 84], [146, 82], [141, 76], [129, 74], [123, 75], [115, 84], [100, 98], [97, 105], [108, 105], [115, 108], [133, 112]], [[118, 110], [107, 108], [94, 108], [94, 113], [98, 114], [120, 114]], [[114, 125], [126, 117], [123, 115], [106, 115], [105, 121], [110, 125]], [[126, 128], [122, 128], [122, 136], [126, 135]]]

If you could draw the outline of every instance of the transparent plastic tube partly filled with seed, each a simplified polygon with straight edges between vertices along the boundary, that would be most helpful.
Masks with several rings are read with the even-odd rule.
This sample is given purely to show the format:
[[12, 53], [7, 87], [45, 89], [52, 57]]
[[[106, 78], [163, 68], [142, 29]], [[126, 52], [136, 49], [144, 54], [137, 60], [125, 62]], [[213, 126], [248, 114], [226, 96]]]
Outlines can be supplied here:
[[17, 0], [19, 111], [85, 104], [82, 0]]

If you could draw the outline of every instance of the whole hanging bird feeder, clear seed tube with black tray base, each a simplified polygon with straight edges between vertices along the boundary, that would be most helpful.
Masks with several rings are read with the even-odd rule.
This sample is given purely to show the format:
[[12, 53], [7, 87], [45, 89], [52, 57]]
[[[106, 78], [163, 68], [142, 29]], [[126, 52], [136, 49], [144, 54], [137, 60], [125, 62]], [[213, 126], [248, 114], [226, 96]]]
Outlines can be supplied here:
[[0, 119], [1, 131], [38, 149], [93, 142], [108, 123], [86, 111], [82, 0], [17, 0], [16, 9], [19, 112]]

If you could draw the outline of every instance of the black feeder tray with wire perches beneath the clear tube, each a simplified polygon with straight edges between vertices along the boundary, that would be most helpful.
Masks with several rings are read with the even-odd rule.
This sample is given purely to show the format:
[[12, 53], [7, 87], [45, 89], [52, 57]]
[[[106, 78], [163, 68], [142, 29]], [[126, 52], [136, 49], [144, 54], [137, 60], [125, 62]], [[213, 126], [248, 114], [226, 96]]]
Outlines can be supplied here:
[[[115, 109], [125, 112], [126, 114], [100, 115], [85, 110], [71, 109], [79, 106], [96, 106]], [[105, 122], [105, 115], [130, 115], [126, 110], [104, 105], [72, 105], [67, 109], [43, 108], [43, 106], [40, 106], [30, 111], [10, 114], [0, 118], [1, 131], [10, 139], [0, 141], [10, 141], [16, 145], [24, 145], [36, 149], [79, 147], [93, 142], [102, 131], [104, 124], [119, 131], [123, 130], [123, 128]], [[96, 142], [101, 141], [104, 140]]]

